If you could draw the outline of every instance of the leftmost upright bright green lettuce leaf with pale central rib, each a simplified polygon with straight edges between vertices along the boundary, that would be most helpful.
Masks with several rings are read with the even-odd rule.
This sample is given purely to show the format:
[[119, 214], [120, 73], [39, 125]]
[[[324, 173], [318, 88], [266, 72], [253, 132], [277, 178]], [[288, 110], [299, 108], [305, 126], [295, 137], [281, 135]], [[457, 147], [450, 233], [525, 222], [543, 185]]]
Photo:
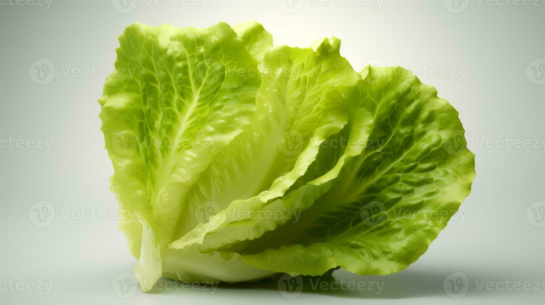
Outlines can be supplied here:
[[[115, 169], [112, 190], [120, 208], [140, 217], [140, 225], [120, 222], [140, 258], [171, 241], [180, 198], [250, 123], [261, 80], [241, 72], [257, 71], [257, 61], [226, 23], [206, 29], [135, 23], [119, 42], [100, 117]], [[144, 265], [161, 265], [160, 255], [146, 258], [135, 269], [139, 279], [151, 274]]]

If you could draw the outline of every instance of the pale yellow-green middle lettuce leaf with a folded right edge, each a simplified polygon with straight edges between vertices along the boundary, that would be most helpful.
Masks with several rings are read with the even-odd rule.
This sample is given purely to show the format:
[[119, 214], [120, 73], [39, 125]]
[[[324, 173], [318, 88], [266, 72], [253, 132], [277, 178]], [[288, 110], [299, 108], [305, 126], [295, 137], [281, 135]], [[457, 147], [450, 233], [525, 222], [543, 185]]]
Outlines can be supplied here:
[[218, 211], [207, 223], [192, 223], [188, 215], [178, 232], [185, 236], [171, 247], [200, 243], [205, 234], [246, 219], [304, 175], [320, 143], [348, 121], [348, 104], [335, 85], [360, 79], [339, 48], [332, 39], [316, 51], [283, 46], [267, 52], [252, 123], [217, 155], [188, 199], [189, 206], [210, 203], [205, 208]]

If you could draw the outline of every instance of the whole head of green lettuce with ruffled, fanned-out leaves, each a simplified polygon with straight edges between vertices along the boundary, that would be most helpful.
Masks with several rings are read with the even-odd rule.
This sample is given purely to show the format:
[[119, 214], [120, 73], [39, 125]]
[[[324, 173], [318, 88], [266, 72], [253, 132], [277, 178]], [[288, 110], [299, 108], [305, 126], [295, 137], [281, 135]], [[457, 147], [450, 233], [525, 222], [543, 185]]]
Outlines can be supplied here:
[[397, 272], [469, 195], [458, 112], [403, 68], [354, 71], [335, 37], [135, 23], [119, 42], [101, 130], [143, 290]]

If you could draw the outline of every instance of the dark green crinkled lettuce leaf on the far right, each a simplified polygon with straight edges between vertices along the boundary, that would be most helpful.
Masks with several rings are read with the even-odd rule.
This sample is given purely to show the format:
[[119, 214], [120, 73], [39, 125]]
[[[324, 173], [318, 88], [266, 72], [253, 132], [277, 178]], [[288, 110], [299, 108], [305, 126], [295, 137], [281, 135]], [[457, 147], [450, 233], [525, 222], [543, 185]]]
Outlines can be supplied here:
[[475, 161], [465, 141], [453, 149], [463, 132], [458, 112], [403, 68], [368, 66], [362, 75], [352, 94], [374, 115], [374, 143], [299, 222], [238, 251], [246, 263], [309, 275], [336, 266], [362, 275], [397, 272], [426, 251], [468, 196]]

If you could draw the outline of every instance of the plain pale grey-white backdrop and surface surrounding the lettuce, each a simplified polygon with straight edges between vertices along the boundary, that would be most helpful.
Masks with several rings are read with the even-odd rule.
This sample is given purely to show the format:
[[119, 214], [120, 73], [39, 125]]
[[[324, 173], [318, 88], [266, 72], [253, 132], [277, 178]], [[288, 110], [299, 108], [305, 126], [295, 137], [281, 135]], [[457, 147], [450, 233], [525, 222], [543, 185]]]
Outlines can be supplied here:
[[[0, 0], [0, 139], [51, 143], [0, 148], [1, 303], [543, 303], [542, 1], [215, 1], [132, 0], [124, 9], [118, 0]], [[116, 217], [104, 216], [117, 202], [108, 190], [113, 168], [96, 102], [116, 38], [136, 21], [208, 27], [251, 20], [272, 33], [275, 45], [305, 47], [335, 35], [355, 70], [368, 62], [405, 66], [460, 112], [477, 177], [457, 218], [407, 270], [334, 274], [337, 282], [378, 281], [380, 293], [305, 286], [286, 298], [272, 281], [215, 291], [119, 290], [117, 280], [136, 260]], [[47, 224], [35, 219], [43, 206], [55, 215], [38, 227]], [[66, 216], [74, 210], [82, 215]], [[458, 294], [449, 280], [462, 284]], [[503, 284], [509, 281], [539, 285], [516, 291]], [[52, 283], [49, 293], [32, 288], [38, 282]], [[492, 289], [481, 288], [486, 282]]]

